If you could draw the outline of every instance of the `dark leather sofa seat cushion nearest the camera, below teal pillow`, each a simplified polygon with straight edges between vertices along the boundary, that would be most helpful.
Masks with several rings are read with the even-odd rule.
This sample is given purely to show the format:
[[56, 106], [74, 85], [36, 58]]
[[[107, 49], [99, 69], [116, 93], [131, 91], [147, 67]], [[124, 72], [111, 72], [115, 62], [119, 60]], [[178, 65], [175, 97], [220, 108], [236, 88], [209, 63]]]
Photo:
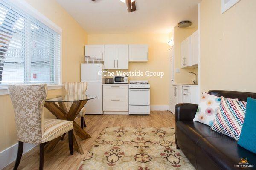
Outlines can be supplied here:
[[[209, 164], [214, 164], [220, 170], [244, 169], [240, 166], [239, 160], [247, 158], [248, 163], [256, 166], [256, 154], [240, 147], [236, 140], [228, 136], [204, 137], [201, 138], [195, 149], [196, 164], [198, 170], [209, 169]], [[253, 167], [247, 167], [251, 170]]]

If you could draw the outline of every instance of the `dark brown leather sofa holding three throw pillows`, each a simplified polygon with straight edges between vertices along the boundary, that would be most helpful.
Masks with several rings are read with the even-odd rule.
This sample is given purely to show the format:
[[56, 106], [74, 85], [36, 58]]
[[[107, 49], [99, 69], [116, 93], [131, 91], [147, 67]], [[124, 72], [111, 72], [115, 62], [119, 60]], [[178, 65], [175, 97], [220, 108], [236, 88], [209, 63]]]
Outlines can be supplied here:
[[[212, 90], [209, 94], [238, 98], [256, 98], [256, 93]], [[192, 121], [198, 105], [180, 103], [175, 106], [176, 146], [181, 149], [197, 170], [255, 170], [256, 154], [240, 147], [237, 141], [210, 129], [209, 126]], [[256, 120], [255, 120], [256, 122]], [[239, 160], [247, 158], [254, 167], [237, 167]]]

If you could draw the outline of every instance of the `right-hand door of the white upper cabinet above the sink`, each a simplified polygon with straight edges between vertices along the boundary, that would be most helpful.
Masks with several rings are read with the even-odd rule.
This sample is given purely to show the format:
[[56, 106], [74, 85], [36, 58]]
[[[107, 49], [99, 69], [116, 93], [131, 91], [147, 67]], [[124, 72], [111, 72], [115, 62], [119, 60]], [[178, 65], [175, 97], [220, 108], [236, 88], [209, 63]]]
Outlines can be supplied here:
[[199, 46], [199, 37], [198, 37], [198, 31], [196, 31], [191, 35], [190, 64], [192, 66], [198, 64], [198, 57], [199, 57], [198, 46]]

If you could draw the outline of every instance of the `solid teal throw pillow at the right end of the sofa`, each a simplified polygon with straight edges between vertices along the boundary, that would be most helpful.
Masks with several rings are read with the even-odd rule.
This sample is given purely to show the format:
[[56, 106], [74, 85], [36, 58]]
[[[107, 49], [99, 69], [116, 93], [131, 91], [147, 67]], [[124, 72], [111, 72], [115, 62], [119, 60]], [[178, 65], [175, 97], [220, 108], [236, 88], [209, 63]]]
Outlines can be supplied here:
[[247, 98], [246, 114], [238, 144], [256, 153], [256, 99]]

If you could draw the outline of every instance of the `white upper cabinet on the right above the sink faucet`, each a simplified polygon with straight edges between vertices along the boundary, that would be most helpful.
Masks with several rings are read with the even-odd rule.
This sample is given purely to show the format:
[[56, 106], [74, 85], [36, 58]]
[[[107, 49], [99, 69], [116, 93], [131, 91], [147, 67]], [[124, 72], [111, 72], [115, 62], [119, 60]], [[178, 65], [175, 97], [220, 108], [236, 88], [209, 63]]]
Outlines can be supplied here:
[[181, 46], [181, 68], [198, 65], [199, 36], [198, 30], [187, 37]]

